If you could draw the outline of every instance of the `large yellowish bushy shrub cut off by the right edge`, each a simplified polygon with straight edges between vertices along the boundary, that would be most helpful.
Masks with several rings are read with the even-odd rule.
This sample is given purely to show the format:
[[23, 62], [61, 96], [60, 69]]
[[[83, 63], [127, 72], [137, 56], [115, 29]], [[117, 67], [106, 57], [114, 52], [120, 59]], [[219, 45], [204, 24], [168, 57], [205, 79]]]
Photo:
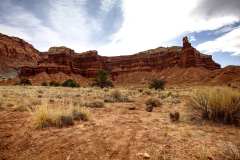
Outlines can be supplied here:
[[216, 122], [240, 124], [240, 92], [227, 87], [197, 90], [189, 105], [195, 116]]

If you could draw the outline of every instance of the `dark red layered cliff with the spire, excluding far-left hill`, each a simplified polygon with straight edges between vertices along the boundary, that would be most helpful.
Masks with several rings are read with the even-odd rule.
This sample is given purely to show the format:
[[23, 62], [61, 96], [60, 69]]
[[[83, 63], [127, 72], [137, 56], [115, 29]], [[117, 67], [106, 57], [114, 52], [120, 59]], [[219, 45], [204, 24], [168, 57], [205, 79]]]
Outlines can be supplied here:
[[63, 72], [94, 77], [98, 70], [104, 69], [114, 79], [122, 73], [161, 71], [171, 67], [203, 67], [209, 70], [220, 68], [211, 56], [203, 55], [193, 48], [187, 37], [183, 39], [183, 47], [160, 47], [130, 56], [103, 57], [97, 51], [76, 54], [66, 47], [54, 47], [42, 53], [41, 58], [36, 67], [22, 67], [21, 75]]

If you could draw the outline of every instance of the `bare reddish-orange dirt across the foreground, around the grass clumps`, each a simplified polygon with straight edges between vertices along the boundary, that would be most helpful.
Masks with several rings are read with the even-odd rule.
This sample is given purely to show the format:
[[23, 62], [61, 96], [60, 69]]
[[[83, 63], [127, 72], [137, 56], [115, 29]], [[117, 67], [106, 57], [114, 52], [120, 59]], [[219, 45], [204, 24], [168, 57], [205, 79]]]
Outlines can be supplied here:
[[[2, 100], [13, 94], [13, 90], [3, 93], [6, 90], [1, 89]], [[163, 103], [146, 112], [148, 97], [139, 95], [133, 97], [134, 102], [91, 108], [90, 121], [75, 122], [67, 128], [35, 129], [30, 112], [14, 111], [12, 106], [18, 104], [7, 105], [0, 109], [0, 159], [221, 160], [226, 159], [229, 146], [240, 148], [240, 128], [191, 120], [188, 96], [181, 95], [181, 103]], [[15, 98], [21, 100], [18, 94]], [[129, 110], [133, 106], [135, 110]], [[179, 122], [169, 119], [169, 112], [175, 110], [181, 114]]]

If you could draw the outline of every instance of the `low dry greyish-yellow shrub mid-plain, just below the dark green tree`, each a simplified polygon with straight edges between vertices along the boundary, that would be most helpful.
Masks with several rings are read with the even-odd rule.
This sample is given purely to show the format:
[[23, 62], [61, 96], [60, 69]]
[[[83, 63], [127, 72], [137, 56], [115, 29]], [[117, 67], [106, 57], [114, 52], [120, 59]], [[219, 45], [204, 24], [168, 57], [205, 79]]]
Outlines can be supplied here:
[[110, 93], [110, 95], [105, 96], [105, 102], [130, 102], [129, 98], [126, 95], [122, 95], [119, 90], [114, 90]]

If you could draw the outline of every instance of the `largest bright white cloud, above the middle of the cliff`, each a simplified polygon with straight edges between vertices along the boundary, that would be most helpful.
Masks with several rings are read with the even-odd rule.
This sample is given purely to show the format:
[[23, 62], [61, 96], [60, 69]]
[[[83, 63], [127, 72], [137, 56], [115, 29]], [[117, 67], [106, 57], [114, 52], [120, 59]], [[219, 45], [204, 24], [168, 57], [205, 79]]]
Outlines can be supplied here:
[[192, 15], [199, 0], [124, 0], [124, 23], [101, 54], [130, 54], [158, 46], [170, 46], [170, 40], [183, 33], [217, 29], [237, 21], [225, 16], [203, 19]]

